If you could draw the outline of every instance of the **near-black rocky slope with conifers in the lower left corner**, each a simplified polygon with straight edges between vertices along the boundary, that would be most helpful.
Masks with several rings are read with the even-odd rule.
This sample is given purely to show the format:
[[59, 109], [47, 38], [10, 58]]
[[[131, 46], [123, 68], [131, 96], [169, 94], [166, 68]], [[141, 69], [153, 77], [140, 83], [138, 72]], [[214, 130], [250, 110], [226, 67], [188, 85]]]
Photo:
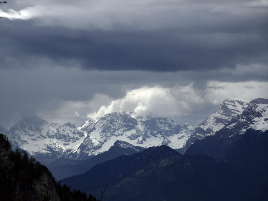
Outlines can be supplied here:
[[95, 201], [91, 194], [70, 190], [56, 183], [51, 172], [28, 158], [25, 151], [12, 151], [8, 138], [0, 134], [0, 200], [1, 201]]

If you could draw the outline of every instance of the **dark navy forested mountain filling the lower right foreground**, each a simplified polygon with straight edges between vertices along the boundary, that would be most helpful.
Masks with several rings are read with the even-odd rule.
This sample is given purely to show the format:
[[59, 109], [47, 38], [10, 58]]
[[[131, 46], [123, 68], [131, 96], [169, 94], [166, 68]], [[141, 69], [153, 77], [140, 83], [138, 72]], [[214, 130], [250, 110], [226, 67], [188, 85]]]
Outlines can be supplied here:
[[[256, 135], [254, 135], [256, 136]], [[167, 146], [150, 147], [131, 156], [100, 163], [81, 175], [60, 182], [99, 194], [99, 184], [108, 184], [105, 200], [265, 200], [268, 133], [254, 140], [259, 157], [244, 161], [248, 152], [236, 150], [232, 160], [181, 155]], [[241, 144], [241, 143], [240, 143]], [[243, 144], [243, 143], [242, 143]], [[236, 157], [241, 158], [236, 160]], [[254, 169], [256, 161], [258, 169]], [[244, 164], [248, 164], [244, 166]], [[253, 169], [248, 168], [253, 167]], [[255, 171], [258, 171], [256, 174]], [[91, 183], [89, 183], [91, 181]]]

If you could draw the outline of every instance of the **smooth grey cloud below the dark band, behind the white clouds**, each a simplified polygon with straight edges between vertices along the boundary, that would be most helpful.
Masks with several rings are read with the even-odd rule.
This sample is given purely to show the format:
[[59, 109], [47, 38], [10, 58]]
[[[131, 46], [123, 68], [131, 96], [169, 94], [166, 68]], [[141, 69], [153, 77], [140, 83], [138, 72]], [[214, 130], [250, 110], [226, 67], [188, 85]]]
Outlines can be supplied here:
[[[42, 114], [47, 121], [70, 121], [80, 125], [85, 118], [73, 117], [74, 112], [77, 111], [85, 117], [90, 110], [96, 111], [96, 108], [83, 106], [74, 111], [58, 110], [63, 103], [90, 101], [95, 94], [107, 94], [110, 98], [120, 99], [125, 96], [126, 91], [146, 85], [173, 87], [176, 84], [185, 86], [193, 82], [194, 88], [204, 90], [209, 80], [267, 81], [267, 70], [266, 66], [259, 65], [206, 72], [83, 71], [73, 68], [1, 69], [0, 123], [9, 127], [23, 116]], [[196, 111], [193, 116], [191, 114], [183, 118], [178, 117], [176, 120], [196, 125], [217, 107], [218, 105], [211, 104], [196, 107], [192, 109]]]

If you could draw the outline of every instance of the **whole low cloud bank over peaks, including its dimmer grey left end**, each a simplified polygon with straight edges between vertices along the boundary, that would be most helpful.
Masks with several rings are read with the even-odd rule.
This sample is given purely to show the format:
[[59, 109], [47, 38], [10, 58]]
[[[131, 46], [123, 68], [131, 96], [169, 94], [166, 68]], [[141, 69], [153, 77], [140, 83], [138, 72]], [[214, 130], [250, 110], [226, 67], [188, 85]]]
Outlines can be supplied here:
[[89, 101], [62, 101], [56, 109], [43, 111], [38, 116], [50, 122], [70, 121], [80, 125], [88, 118], [131, 111], [136, 116], [173, 117], [183, 121], [185, 117], [195, 118], [196, 110], [202, 111], [204, 103], [216, 106], [228, 97], [245, 101], [268, 99], [268, 82], [208, 81], [203, 90], [195, 88], [193, 83], [173, 87], [144, 86], [127, 90], [124, 97], [118, 99], [95, 94]]

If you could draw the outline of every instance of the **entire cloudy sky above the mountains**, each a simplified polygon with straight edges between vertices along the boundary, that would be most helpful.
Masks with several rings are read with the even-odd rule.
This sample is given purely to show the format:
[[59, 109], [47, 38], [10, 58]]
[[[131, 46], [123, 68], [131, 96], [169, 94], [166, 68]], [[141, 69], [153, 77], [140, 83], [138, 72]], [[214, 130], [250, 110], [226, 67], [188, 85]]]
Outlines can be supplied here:
[[0, 5], [0, 124], [110, 112], [198, 125], [268, 98], [268, 1], [25, 0]]

